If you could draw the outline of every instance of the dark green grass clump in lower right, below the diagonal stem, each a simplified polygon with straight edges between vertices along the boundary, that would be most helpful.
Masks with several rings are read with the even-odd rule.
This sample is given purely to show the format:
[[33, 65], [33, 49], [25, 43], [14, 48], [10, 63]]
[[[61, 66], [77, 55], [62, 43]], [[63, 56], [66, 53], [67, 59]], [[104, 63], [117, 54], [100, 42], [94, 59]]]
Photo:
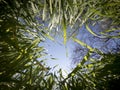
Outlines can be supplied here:
[[119, 58], [120, 54], [106, 54], [101, 60], [89, 58], [89, 63], [80, 65], [81, 61], [64, 79], [62, 87], [67, 87], [68, 90], [118, 89], [120, 85]]

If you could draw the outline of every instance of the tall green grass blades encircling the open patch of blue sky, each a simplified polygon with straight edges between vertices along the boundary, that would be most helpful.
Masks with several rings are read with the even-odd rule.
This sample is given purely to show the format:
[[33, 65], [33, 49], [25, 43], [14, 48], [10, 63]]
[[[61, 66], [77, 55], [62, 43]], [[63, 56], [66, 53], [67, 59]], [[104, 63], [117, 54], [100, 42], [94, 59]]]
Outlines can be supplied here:
[[[90, 55], [95, 49], [70, 35], [72, 39], [87, 47], [90, 52], [68, 74], [63, 77], [50, 72], [44, 60], [44, 47], [39, 43], [45, 38], [54, 40], [49, 34], [57, 26], [63, 29], [64, 44], [67, 42], [67, 27], [86, 24], [88, 31], [97, 36], [88, 26], [89, 20], [112, 19], [112, 25], [120, 24], [119, 1], [117, 0], [1, 0], [0, 1], [0, 89], [1, 90], [101, 90], [112, 89], [120, 82], [120, 55], [101, 54], [102, 59]], [[44, 23], [49, 23], [47, 29]], [[49, 30], [50, 29], [50, 30]], [[118, 29], [118, 28], [117, 28]], [[111, 30], [117, 30], [112, 28]], [[111, 30], [102, 32], [106, 35]], [[107, 32], [107, 33], [106, 33]], [[106, 35], [108, 36], [108, 35]], [[116, 36], [117, 37], [117, 36]], [[119, 35], [118, 35], [119, 37]], [[112, 38], [112, 36], [110, 37]], [[118, 82], [118, 83], [116, 83]], [[113, 84], [115, 83], [115, 84]], [[119, 86], [119, 84], [118, 84]]]

